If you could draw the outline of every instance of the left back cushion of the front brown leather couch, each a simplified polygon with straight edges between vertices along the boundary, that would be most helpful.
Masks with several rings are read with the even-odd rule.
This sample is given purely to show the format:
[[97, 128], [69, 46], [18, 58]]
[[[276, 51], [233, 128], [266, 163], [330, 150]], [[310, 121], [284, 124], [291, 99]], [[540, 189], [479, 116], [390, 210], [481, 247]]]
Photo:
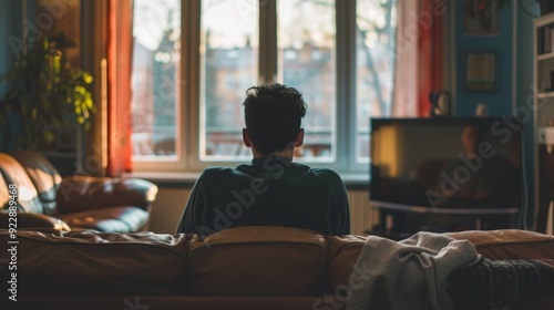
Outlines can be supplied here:
[[[181, 294], [191, 236], [18, 231], [20, 294]], [[0, 244], [7, 245], [7, 231]], [[0, 294], [8, 293], [8, 246], [0, 249]], [[123, 306], [121, 307], [123, 308]]]

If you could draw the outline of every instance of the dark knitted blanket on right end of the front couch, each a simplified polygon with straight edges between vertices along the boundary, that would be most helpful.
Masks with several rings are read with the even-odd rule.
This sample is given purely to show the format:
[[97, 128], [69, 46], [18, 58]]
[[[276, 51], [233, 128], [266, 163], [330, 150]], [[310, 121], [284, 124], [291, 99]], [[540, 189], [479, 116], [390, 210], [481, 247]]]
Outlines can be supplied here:
[[554, 293], [554, 260], [481, 259], [453, 271], [448, 281], [456, 309], [512, 310], [524, 298]]

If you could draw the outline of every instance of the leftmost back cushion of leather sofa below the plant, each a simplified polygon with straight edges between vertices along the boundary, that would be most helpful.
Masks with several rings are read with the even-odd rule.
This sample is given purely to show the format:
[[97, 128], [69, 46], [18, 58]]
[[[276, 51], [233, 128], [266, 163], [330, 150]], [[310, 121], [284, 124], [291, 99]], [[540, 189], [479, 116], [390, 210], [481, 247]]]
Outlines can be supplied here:
[[0, 173], [8, 186], [17, 185], [17, 202], [20, 211], [40, 214], [44, 211], [34, 184], [13, 156], [0, 153]]

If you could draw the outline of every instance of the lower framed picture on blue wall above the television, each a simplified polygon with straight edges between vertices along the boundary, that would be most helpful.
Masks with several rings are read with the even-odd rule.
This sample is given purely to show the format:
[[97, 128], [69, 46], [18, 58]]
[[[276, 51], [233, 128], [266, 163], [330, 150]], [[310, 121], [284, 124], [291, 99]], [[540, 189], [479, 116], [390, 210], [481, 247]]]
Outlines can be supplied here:
[[499, 56], [494, 52], [468, 52], [462, 64], [465, 91], [496, 91]]

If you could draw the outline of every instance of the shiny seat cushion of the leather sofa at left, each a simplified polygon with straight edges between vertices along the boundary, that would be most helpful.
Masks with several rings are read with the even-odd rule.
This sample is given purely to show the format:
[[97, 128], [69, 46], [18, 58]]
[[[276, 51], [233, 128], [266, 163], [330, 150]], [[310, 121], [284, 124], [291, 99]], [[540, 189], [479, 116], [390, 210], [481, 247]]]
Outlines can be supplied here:
[[58, 218], [66, 223], [72, 230], [94, 229], [106, 232], [135, 232], [146, 225], [148, 213], [137, 207], [121, 206], [60, 214]]

